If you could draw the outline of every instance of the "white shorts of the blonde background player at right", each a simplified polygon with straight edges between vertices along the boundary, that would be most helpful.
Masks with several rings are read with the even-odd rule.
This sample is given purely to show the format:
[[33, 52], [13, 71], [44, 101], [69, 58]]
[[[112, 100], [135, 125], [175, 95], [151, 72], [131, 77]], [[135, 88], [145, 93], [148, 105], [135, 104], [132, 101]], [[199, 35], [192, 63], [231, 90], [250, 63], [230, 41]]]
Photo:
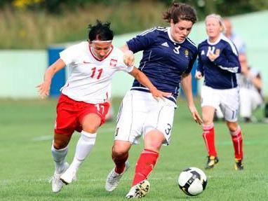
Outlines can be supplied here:
[[201, 106], [213, 106], [215, 109], [220, 106], [225, 120], [236, 122], [239, 111], [239, 88], [218, 90], [203, 85]]

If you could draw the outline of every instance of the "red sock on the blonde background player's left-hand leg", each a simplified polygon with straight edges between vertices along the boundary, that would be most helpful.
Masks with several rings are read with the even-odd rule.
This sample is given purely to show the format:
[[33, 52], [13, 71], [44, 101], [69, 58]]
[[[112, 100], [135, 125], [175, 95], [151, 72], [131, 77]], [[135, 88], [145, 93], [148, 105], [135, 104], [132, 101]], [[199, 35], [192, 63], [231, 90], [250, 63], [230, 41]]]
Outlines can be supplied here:
[[210, 125], [203, 125], [203, 140], [205, 141], [208, 155], [217, 156], [213, 123]]

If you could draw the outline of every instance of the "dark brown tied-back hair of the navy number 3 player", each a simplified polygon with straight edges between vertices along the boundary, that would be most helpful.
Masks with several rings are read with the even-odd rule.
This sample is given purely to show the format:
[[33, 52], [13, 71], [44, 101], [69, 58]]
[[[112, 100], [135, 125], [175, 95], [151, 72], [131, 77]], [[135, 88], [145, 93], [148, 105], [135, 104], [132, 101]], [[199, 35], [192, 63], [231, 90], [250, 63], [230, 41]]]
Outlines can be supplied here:
[[180, 20], [188, 20], [194, 24], [197, 20], [196, 10], [188, 4], [173, 2], [168, 11], [163, 13], [163, 20], [170, 22], [171, 19], [174, 24], [177, 24]]

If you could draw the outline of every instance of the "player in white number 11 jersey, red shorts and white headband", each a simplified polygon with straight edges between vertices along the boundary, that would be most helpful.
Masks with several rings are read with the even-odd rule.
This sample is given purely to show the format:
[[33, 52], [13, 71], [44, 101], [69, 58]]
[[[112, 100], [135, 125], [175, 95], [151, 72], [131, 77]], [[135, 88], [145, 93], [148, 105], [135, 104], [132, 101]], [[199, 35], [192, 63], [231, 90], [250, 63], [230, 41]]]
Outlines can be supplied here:
[[[46, 70], [44, 81], [40, 85], [41, 97], [49, 95], [53, 75], [69, 65], [70, 76], [61, 88], [58, 100], [55, 134], [51, 147], [55, 162], [55, 173], [52, 179], [52, 190], [58, 193], [63, 183], [71, 183], [76, 178], [79, 166], [91, 152], [97, 130], [105, 123], [109, 109], [109, 90], [112, 76], [116, 71], [126, 71], [149, 88], [152, 97], [163, 98], [166, 92], [157, 90], [147, 76], [133, 67], [123, 52], [112, 46], [114, 34], [109, 22], [97, 20], [94, 26], [89, 25], [88, 41], [71, 46], [60, 53], [60, 59]], [[126, 63], [130, 64], [129, 66]], [[69, 140], [74, 131], [81, 132], [76, 144], [72, 164], [65, 162]]]

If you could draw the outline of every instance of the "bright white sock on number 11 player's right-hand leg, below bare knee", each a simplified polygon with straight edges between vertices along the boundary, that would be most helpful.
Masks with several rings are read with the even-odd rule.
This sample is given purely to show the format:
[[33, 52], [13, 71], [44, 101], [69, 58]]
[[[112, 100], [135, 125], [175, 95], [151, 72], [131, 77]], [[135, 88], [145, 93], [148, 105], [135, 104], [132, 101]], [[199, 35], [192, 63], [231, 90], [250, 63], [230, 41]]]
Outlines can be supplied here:
[[97, 133], [90, 133], [82, 130], [81, 137], [76, 144], [74, 160], [69, 167], [70, 169], [77, 171], [83, 160], [85, 160], [88, 154], [91, 153], [91, 150], [95, 144], [96, 136]]

